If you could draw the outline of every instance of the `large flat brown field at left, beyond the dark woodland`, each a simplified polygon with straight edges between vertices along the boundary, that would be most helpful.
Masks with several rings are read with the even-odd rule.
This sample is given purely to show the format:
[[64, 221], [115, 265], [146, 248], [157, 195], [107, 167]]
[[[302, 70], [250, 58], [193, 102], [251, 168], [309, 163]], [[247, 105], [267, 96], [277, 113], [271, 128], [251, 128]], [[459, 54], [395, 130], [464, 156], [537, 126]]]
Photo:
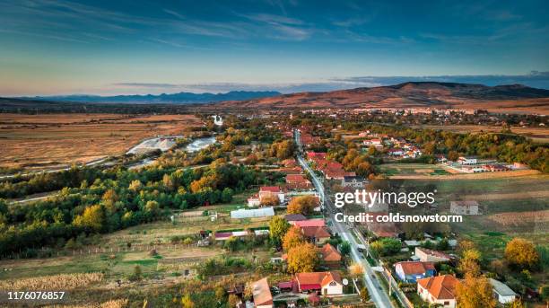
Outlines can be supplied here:
[[140, 140], [182, 134], [192, 115], [2, 114], [0, 167], [48, 168], [124, 154]]

